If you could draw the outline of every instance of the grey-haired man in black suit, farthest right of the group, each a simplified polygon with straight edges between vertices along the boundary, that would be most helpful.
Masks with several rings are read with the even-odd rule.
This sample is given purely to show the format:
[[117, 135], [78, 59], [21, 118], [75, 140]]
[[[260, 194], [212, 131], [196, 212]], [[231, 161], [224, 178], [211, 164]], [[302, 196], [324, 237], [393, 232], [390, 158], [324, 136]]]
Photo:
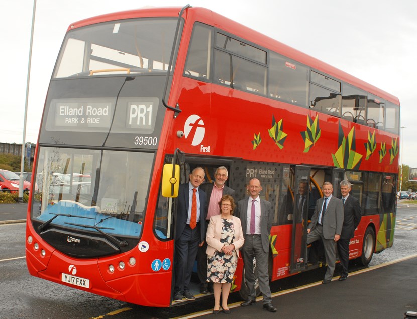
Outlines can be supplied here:
[[350, 182], [348, 180], [343, 180], [339, 185], [340, 192], [342, 193], [344, 219], [342, 233], [340, 234], [340, 239], [337, 242], [337, 249], [340, 264], [342, 265], [339, 280], [343, 281], [348, 277], [349, 241], [354, 236], [355, 229], [361, 221], [362, 214], [359, 200], [349, 194], [352, 189]]

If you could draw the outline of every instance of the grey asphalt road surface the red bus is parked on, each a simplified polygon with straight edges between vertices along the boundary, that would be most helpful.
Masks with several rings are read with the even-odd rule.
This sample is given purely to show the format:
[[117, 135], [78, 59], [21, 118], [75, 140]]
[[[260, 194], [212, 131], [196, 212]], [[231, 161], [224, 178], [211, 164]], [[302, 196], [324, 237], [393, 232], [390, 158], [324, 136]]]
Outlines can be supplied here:
[[[0, 204], [2, 205], [2, 204]], [[175, 318], [211, 314], [213, 297], [196, 300], [180, 307], [150, 308], [133, 305], [45, 281], [29, 275], [25, 260], [25, 223], [0, 224], [0, 318]], [[398, 201], [394, 245], [375, 254], [369, 268], [417, 253], [417, 206]], [[352, 264], [350, 270], [360, 269]], [[280, 291], [321, 281], [325, 268], [271, 283], [278, 304]], [[229, 297], [230, 307], [239, 306], [238, 293]], [[278, 312], [274, 317], [279, 317]], [[252, 310], [254, 310], [253, 308]], [[260, 309], [260, 307], [259, 307]], [[284, 308], [285, 309], [285, 308]], [[415, 311], [415, 310], [414, 310]], [[269, 313], [260, 314], [269, 317]], [[224, 314], [220, 314], [223, 316]], [[272, 317], [272, 316], [271, 316]], [[401, 316], [402, 317], [402, 316]]]

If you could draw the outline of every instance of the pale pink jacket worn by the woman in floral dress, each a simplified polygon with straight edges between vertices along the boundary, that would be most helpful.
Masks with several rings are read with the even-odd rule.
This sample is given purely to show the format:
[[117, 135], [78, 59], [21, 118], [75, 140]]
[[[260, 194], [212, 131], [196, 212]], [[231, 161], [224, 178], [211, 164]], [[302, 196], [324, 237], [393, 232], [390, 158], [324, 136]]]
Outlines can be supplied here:
[[[235, 249], [239, 257], [239, 248], [243, 246], [245, 240], [243, 238], [240, 218], [232, 215], [232, 219], [235, 228], [235, 239], [231, 244], [235, 245]], [[205, 237], [207, 242], [207, 250], [205, 252], [209, 256], [213, 256], [216, 250], [222, 251], [223, 244], [220, 242], [220, 238], [222, 236], [222, 226], [222, 215], [216, 215], [210, 218], [209, 228], [207, 229], [207, 235]]]

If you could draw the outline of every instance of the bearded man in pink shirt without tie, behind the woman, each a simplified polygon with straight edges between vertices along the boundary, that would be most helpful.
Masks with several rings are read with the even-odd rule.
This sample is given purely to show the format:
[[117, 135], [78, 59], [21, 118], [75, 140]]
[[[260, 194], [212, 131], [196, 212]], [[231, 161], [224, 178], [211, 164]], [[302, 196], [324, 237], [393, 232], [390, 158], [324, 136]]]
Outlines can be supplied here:
[[[210, 217], [219, 215], [220, 207], [219, 201], [223, 195], [234, 195], [235, 190], [226, 186], [225, 182], [228, 179], [227, 168], [220, 166], [216, 169], [215, 172], [215, 181], [214, 183], [202, 184], [200, 188], [207, 194], [209, 199], [206, 201], [206, 227], [209, 226]], [[213, 284], [207, 282], [207, 243], [204, 242], [204, 245], [198, 248], [197, 262], [198, 262], [198, 278], [200, 279], [200, 292], [203, 294], [213, 292]]]

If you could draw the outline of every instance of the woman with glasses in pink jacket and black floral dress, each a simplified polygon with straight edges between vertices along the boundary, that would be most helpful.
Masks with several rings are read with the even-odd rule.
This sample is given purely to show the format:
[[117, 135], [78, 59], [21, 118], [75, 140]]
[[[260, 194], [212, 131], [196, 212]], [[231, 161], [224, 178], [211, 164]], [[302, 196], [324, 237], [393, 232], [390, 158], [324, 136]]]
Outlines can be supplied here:
[[220, 311], [221, 292], [223, 312], [230, 313], [227, 300], [238, 262], [239, 248], [244, 242], [240, 219], [232, 215], [236, 206], [233, 197], [224, 195], [219, 206], [221, 214], [210, 218], [206, 236], [207, 281], [213, 283], [215, 314]]

